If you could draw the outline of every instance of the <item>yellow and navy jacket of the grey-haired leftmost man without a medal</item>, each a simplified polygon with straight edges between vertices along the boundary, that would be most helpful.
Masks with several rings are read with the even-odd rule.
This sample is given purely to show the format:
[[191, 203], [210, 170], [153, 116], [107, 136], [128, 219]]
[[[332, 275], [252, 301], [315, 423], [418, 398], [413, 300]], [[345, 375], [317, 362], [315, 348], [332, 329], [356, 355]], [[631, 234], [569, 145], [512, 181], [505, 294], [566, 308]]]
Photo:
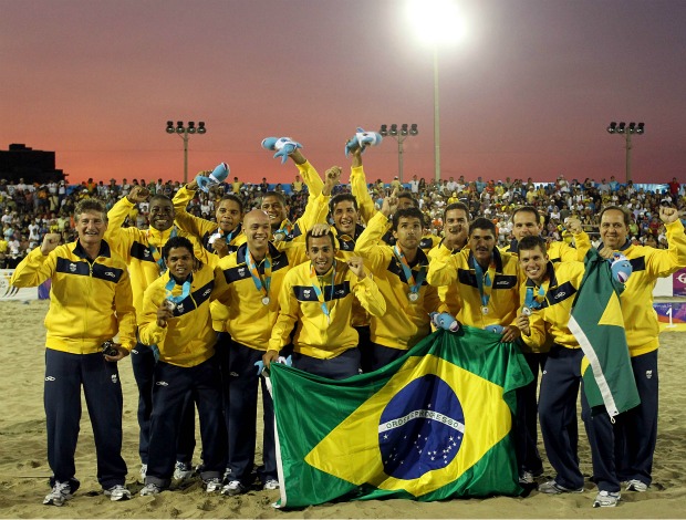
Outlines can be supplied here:
[[45, 315], [45, 346], [71, 354], [101, 352], [117, 333], [126, 350], [136, 344], [136, 312], [124, 260], [102, 241], [97, 258], [89, 260], [76, 240], [48, 256], [38, 247], [12, 274], [14, 287], [37, 287], [52, 279]]

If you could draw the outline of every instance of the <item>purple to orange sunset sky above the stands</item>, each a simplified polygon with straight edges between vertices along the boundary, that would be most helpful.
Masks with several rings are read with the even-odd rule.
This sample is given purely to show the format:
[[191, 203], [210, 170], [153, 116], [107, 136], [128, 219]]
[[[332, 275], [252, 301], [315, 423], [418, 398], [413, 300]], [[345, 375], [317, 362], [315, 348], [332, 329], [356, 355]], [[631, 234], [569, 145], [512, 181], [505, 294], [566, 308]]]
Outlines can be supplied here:
[[[428, 0], [427, 0], [428, 1]], [[462, 0], [439, 50], [441, 176], [624, 179], [611, 121], [645, 122], [633, 179], [686, 181], [686, 1]], [[356, 126], [416, 123], [404, 177], [434, 175], [432, 50], [403, 0], [0, 0], [0, 148], [55, 150], [70, 181], [183, 178], [167, 119], [205, 121], [189, 177], [290, 183], [291, 136], [322, 174]], [[397, 175], [391, 137], [367, 177]]]

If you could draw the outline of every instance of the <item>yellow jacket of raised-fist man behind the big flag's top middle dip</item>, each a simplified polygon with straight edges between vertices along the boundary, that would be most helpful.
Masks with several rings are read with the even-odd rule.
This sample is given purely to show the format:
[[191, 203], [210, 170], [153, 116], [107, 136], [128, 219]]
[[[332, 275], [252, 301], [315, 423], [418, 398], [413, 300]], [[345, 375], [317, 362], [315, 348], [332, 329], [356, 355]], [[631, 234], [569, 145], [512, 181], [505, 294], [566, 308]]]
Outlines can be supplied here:
[[[364, 232], [357, 238], [355, 252], [364, 258], [365, 266], [374, 273], [378, 290], [387, 303], [382, 316], [372, 316], [371, 341], [392, 349], [408, 350], [432, 332], [429, 312], [438, 311], [440, 300], [436, 288], [426, 280], [419, 288], [419, 298], [410, 302], [407, 294], [410, 288], [393, 248], [380, 243], [387, 229], [388, 219], [377, 212]], [[417, 262], [412, 268], [415, 280], [420, 269], [428, 268], [428, 259], [422, 249], [417, 250]]]

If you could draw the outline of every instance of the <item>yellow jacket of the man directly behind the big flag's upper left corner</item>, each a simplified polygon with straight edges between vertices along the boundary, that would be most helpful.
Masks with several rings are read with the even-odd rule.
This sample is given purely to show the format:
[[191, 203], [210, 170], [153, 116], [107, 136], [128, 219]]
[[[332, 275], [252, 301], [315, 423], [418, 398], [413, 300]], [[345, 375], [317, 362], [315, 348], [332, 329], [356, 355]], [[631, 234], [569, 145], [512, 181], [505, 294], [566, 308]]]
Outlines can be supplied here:
[[[311, 269], [311, 262], [304, 262], [285, 274], [279, 293], [279, 318], [268, 350], [279, 351], [287, 345], [295, 325], [294, 351], [310, 357], [328, 360], [357, 346], [357, 331], [351, 325], [354, 298], [360, 300], [373, 316], [384, 315], [386, 302], [372, 277], [357, 280], [343, 262], [336, 262], [333, 285], [331, 270], [321, 278], [313, 278]], [[314, 292], [314, 283], [323, 285], [330, 320], [326, 319]]]

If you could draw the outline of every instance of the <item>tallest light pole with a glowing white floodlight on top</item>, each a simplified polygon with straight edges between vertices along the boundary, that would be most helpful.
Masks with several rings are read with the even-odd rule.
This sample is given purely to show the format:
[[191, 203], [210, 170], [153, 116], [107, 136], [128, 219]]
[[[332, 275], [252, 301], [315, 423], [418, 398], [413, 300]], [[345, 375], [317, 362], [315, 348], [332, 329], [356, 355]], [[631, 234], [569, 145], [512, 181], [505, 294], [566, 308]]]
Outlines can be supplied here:
[[462, 37], [462, 20], [455, 0], [409, 0], [407, 13], [417, 35], [434, 53], [434, 178], [440, 180], [440, 104], [438, 101], [438, 48]]

